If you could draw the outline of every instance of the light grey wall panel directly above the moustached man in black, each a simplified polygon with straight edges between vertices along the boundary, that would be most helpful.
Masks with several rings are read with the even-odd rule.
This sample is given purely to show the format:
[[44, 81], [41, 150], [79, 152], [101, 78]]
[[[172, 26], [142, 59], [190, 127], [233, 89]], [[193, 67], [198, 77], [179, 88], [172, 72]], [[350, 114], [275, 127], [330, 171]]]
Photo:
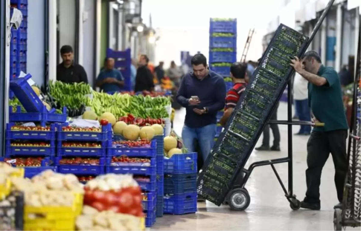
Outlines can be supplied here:
[[[87, 0], [89, 1], [89, 0]], [[60, 46], [75, 47], [75, 0], [57, 0], [59, 13]], [[59, 54], [60, 57], [60, 54]], [[61, 62], [61, 58], [60, 58]]]

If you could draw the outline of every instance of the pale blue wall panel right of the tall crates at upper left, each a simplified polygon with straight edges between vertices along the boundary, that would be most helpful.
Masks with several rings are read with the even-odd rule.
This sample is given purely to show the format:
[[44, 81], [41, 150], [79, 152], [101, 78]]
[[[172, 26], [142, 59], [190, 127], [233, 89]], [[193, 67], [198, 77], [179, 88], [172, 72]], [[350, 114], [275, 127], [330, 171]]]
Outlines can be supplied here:
[[27, 72], [37, 85], [44, 83], [45, 9], [44, 0], [31, 0], [28, 5]]

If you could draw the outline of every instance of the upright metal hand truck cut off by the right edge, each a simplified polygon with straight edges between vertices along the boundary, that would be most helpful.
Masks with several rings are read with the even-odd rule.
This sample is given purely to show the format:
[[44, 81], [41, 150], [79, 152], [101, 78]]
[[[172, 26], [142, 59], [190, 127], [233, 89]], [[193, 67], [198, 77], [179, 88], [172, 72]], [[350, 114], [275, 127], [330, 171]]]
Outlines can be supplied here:
[[[361, 31], [361, 20], [360, 30]], [[347, 159], [349, 167], [344, 185], [342, 208], [334, 211], [334, 229], [361, 226], [361, 32], [358, 35], [355, 82], [353, 84], [352, 114], [348, 139]]]

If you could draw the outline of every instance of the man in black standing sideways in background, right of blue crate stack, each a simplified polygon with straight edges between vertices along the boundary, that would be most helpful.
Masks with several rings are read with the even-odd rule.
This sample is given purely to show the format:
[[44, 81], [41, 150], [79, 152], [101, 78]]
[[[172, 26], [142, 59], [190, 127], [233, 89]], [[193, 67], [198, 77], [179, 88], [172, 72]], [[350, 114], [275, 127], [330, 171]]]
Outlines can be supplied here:
[[148, 68], [148, 62], [149, 58], [147, 55], [140, 55], [139, 67], [135, 76], [135, 92], [154, 90], [153, 74]]

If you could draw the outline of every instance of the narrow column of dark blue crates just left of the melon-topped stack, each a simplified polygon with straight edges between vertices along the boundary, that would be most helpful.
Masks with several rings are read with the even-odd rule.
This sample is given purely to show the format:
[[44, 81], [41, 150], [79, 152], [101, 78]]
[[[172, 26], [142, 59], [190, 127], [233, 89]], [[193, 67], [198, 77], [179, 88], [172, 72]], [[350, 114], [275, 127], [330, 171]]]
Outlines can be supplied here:
[[164, 136], [155, 136], [157, 142], [157, 217], [164, 213]]

